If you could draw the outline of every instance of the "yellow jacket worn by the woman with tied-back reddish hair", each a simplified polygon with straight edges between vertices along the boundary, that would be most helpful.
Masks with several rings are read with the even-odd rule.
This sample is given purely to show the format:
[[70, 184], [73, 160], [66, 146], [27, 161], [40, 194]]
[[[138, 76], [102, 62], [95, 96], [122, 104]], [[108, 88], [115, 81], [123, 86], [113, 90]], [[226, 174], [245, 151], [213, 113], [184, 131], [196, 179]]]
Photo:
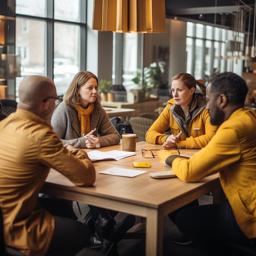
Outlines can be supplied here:
[[[167, 101], [167, 106], [161, 115], [152, 124], [146, 132], [146, 141], [153, 144], [164, 144], [169, 135], [164, 132], [171, 128], [171, 134], [176, 135], [182, 131], [182, 128], [175, 121], [171, 108], [175, 105], [174, 99]], [[203, 148], [216, 133], [217, 126], [210, 124], [210, 115], [205, 105], [200, 107], [201, 110], [191, 119], [189, 124], [189, 137], [183, 133], [181, 141], [177, 144], [180, 148]]]

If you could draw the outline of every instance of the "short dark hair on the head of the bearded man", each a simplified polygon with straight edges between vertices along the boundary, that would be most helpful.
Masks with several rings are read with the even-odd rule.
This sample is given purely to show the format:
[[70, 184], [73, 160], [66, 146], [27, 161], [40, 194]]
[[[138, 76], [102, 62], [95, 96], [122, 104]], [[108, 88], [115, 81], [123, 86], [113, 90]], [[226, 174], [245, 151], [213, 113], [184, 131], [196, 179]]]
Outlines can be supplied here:
[[210, 92], [216, 98], [220, 94], [225, 94], [232, 105], [244, 105], [248, 87], [245, 80], [238, 74], [233, 72], [219, 73], [211, 77], [209, 83], [211, 83]]

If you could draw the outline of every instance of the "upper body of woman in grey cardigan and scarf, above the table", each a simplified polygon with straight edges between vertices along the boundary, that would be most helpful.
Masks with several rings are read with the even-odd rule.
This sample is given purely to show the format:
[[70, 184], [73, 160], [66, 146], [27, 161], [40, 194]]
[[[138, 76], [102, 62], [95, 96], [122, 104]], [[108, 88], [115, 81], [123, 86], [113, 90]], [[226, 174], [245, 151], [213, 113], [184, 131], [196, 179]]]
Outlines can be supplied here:
[[52, 115], [51, 123], [63, 145], [100, 148], [120, 143], [119, 132], [101, 106], [98, 78], [88, 71], [74, 76], [63, 102]]

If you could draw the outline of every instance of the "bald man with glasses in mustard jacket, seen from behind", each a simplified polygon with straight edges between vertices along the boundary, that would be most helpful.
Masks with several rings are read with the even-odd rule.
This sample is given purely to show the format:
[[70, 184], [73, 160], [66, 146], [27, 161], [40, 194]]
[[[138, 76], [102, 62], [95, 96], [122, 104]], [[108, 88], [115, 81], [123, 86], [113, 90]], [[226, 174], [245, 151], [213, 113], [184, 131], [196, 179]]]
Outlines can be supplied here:
[[0, 122], [4, 241], [28, 256], [63, 255], [59, 253], [63, 249], [75, 255], [91, 239], [87, 225], [53, 216], [38, 201], [50, 168], [77, 186], [91, 186], [95, 181], [88, 155], [71, 145], [63, 146], [52, 130], [56, 97], [51, 79], [27, 76], [19, 86], [17, 111]]

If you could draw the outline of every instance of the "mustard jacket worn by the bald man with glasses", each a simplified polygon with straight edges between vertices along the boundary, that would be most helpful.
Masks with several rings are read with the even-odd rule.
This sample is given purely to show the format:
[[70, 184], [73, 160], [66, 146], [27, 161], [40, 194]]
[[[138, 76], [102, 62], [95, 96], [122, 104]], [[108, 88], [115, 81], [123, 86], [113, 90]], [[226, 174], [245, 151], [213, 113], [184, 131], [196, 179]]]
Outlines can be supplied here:
[[0, 209], [5, 244], [28, 256], [46, 254], [54, 217], [38, 203], [50, 168], [78, 186], [90, 186], [95, 170], [81, 149], [63, 147], [52, 126], [26, 110], [0, 121]]

